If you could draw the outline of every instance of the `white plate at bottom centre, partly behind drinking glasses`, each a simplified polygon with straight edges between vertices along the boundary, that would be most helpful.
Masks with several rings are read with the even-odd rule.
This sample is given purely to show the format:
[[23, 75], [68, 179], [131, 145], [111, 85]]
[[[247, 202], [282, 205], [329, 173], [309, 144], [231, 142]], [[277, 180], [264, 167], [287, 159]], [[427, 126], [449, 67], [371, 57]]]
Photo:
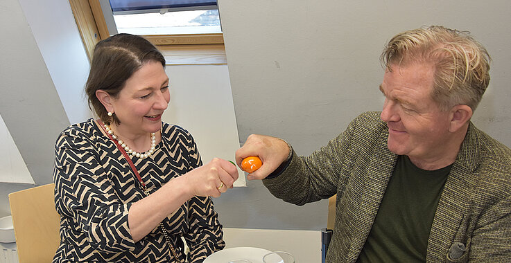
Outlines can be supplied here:
[[227, 248], [209, 255], [204, 263], [228, 263], [232, 260], [249, 260], [252, 263], [263, 263], [263, 256], [271, 252], [264, 248]]

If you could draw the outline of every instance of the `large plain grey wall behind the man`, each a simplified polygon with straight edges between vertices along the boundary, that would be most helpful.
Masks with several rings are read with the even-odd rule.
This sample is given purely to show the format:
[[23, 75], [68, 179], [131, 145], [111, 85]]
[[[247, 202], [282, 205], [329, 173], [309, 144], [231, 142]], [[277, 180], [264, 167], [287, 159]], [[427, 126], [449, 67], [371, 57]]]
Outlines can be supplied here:
[[[440, 24], [470, 30], [492, 55], [490, 87], [473, 120], [511, 146], [511, 1], [218, 4], [242, 143], [249, 134], [269, 134], [285, 138], [303, 155], [325, 145], [361, 112], [381, 110], [379, 55], [388, 39], [404, 30]], [[230, 194], [238, 203], [224, 197], [220, 202], [256, 218], [227, 218], [229, 224], [309, 230], [326, 226], [327, 201], [297, 207], [268, 196], [257, 182], [247, 185], [250, 192]]]

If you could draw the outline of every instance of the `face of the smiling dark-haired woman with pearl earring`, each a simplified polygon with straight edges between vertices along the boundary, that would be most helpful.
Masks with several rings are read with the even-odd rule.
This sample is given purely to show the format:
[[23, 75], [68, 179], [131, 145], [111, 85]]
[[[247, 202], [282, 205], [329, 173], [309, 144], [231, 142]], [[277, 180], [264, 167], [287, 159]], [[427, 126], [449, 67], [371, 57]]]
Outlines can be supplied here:
[[168, 77], [160, 62], [146, 62], [126, 80], [117, 98], [111, 98], [113, 110], [121, 121], [124, 136], [159, 131], [162, 114], [171, 100]]

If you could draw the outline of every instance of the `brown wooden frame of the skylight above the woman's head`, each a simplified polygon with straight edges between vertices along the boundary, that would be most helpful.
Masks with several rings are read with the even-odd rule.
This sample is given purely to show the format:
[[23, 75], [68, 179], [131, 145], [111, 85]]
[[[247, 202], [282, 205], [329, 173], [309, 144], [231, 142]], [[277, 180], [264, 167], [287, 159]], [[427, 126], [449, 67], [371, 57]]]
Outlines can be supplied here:
[[[92, 59], [92, 53], [94, 46], [98, 42], [107, 37], [110, 37], [108, 33], [105, 16], [99, 0], [69, 0], [71, 10], [76, 20], [76, 25], [80, 31], [80, 35], [85, 46], [85, 51], [89, 57], [89, 61]], [[182, 64], [227, 64], [225, 59], [225, 49], [223, 49], [223, 33], [214, 34], [183, 34], [183, 35], [144, 35], [151, 43], [159, 48], [162, 53], [167, 57], [173, 56], [173, 51], [179, 51], [178, 56], [182, 56], [182, 47], [185, 45], [198, 45], [198, 48], [184, 48], [184, 50], [198, 50], [201, 47], [206, 51], [208, 48], [213, 48], [216, 59], [214, 61], [208, 61], [203, 59], [193, 58], [188, 62], [182, 62]], [[218, 53], [218, 47], [221, 45], [223, 54]], [[194, 53], [189, 54], [191, 57]], [[200, 52], [200, 56], [204, 56], [204, 52]], [[220, 56], [220, 59], [219, 59]], [[223, 57], [222, 57], [223, 56]], [[211, 57], [211, 56], [210, 56]], [[182, 60], [180, 60], [182, 61]]]

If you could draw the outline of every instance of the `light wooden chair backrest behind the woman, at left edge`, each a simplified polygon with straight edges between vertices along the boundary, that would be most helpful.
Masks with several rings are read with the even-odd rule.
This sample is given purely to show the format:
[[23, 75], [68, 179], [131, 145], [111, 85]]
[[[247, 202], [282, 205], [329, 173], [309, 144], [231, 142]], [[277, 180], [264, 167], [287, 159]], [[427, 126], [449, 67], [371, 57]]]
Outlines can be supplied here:
[[53, 183], [9, 194], [19, 263], [51, 262], [60, 244]]

